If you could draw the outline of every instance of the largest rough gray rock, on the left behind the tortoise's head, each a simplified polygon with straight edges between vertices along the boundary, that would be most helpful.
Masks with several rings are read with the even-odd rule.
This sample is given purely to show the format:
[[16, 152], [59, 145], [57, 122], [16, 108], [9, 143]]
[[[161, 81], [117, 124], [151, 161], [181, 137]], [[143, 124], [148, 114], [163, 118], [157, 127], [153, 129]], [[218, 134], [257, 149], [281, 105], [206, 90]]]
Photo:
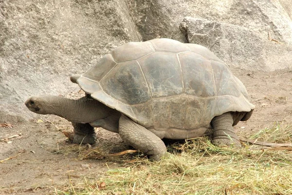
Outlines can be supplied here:
[[[27, 115], [31, 95], [66, 94], [111, 49], [141, 41], [125, 1], [0, 1], [0, 122]], [[18, 117], [15, 117], [18, 116]]]

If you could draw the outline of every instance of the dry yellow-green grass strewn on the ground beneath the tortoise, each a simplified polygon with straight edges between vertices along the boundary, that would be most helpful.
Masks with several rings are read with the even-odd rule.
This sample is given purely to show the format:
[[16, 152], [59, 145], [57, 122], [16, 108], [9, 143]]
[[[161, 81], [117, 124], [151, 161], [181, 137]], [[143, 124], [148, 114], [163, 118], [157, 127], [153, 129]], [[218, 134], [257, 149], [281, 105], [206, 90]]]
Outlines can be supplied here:
[[[285, 134], [284, 134], [285, 132]], [[292, 127], [276, 124], [253, 138], [291, 140]], [[219, 148], [201, 137], [168, 147], [159, 162], [126, 158], [121, 168], [73, 180], [56, 195], [291, 195], [289, 151]], [[82, 157], [84, 151], [79, 151]], [[92, 152], [92, 151], [91, 151]], [[124, 158], [125, 159], [125, 158]]]

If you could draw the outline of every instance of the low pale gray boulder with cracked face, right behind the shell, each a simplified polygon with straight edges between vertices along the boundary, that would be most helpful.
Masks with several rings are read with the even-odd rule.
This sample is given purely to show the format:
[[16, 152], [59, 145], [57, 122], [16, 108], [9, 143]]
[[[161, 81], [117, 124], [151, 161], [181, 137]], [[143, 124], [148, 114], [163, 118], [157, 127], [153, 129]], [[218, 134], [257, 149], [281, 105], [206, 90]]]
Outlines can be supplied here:
[[248, 28], [186, 17], [181, 30], [189, 43], [209, 48], [233, 67], [263, 71], [292, 68], [292, 46], [263, 39]]

